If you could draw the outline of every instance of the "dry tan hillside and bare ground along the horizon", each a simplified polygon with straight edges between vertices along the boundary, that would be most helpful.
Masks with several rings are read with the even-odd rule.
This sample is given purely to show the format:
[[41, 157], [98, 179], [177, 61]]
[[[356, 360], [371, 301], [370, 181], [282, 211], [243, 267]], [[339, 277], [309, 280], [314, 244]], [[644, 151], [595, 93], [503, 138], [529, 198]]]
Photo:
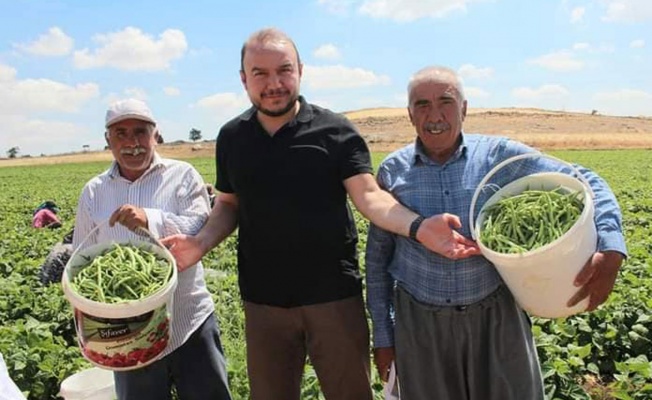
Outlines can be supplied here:
[[[374, 108], [344, 113], [359, 129], [372, 151], [392, 151], [414, 140], [414, 127], [404, 108]], [[612, 117], [540, 109], [471, 109], [465, 132], [502, 135], [541, 150], [652, 148], [652, 118]], [[159, 153], [171, 158], [210, 157], [214, 141], [166, 143]], [[0, 159], [0, 167], [102, 161], [109, 151], [57, 156]]]

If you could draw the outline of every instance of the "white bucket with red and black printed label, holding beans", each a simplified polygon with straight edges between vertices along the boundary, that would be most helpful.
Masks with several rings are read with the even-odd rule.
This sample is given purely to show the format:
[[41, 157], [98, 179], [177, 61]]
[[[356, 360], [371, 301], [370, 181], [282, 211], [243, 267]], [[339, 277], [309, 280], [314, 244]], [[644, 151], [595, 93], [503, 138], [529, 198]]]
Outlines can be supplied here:
[[[88, 260], [115, 243], [131, 244], [153, 252], [172, 265], [172, 277], [151, 296], [124, 303], [89, 300], [71, 287], [74, 276]], [[172, 299], [177, 286], [174, 257], [163, 246], [145, 241], [99, 243], [76, 250], [63, 272], [63, 292], [74, 308], [77, 341], [83, 356], [93, 365], [114, 371], [141, 368], [160, 358], [170, 338]]]

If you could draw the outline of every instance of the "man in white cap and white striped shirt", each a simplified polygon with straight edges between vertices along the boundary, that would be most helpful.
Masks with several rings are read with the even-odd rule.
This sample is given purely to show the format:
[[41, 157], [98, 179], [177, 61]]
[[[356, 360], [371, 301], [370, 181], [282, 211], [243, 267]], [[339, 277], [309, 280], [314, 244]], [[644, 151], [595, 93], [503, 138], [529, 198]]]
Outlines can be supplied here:
[[[137, 228], [160, 237], [198, 232], [210, 211], [204, 182], [190, 164], [156, 153], [159, 132], [147, 105], [135, 99], [113, 103], [106, 113], [105, 136], [115, 160], [82, 191], [74, 248], [138, 239], [133, 233]], [[115, 372], [118, 398], [171, 399], [174, 386], [181, 400], [230, 400], [214, 311], [201, 262], [180, 268], [162, 358]]]

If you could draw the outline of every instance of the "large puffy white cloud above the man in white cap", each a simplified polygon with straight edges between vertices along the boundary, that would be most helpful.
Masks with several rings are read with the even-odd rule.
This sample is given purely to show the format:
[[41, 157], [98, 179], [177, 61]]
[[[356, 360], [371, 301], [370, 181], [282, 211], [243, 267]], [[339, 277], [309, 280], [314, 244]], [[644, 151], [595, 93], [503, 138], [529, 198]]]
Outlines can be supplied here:
[[119, 32], [96, 35], [94, 50], [75, 51], [77, 68], [113, 67], [127, 71], [160, 71], [170, 68], [188, 49], [186, 36], [177, 29], [167, 29], [158, 39], [138, 28], [127, 27]]

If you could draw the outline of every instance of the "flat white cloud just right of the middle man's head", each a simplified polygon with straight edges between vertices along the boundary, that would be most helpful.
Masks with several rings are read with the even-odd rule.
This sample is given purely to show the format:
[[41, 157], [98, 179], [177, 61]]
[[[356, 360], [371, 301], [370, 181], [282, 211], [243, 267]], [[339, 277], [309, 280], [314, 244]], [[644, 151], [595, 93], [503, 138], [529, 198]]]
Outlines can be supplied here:
[[365, 86], [389, 85], [387, 75], [378, 75], [362, 68], [342, 65], [303, 67], [303, 83], [311, 89], [348, 89]]

